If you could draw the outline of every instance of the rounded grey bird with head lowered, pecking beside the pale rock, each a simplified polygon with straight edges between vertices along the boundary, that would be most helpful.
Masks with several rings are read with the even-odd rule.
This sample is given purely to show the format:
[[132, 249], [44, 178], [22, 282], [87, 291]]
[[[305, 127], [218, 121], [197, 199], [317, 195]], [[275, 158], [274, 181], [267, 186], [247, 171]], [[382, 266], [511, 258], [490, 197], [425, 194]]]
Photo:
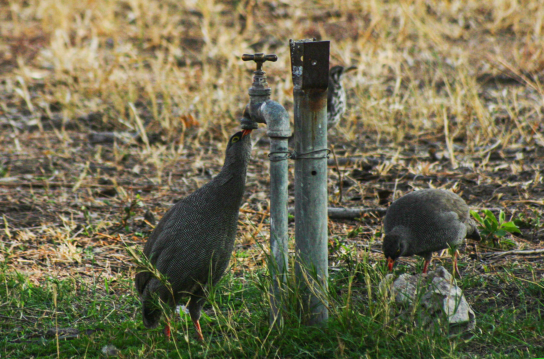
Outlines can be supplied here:
[[[405, 194], [387, 209], [384, 219], [384, 256], [389, 270], [398, 257], [419, 255], [427, 272], [432, 252], [455, 249], [465, 238], [480, 239], [465, 201], [457, 194], [428, 188]], [[455, 272], [457, 251], [453, 257]]]

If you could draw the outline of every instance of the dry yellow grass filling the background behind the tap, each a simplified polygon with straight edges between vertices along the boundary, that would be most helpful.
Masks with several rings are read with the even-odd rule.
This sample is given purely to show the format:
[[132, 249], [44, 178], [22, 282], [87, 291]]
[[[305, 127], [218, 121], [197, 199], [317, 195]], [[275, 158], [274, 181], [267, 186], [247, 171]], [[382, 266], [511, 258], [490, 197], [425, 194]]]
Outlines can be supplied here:
[[[279, 61], [265, 68], [273, 97], [289, 104], [288, 39], [316, 36], [331, 40], [331, 62], [359, 66], [349, 84], [357, 96], [348, 129], [402, 141], [406, 134], [441, 133], [446, 123], [450, 137], [466, 136], [474, 149], [497, 138], [503, 144], [529, 140], [540, 126], [539, 1], [36, 0], [1, 6], [4, 87], [38, 121], [54, 104], [64, 122], [98, 111], [104, 124], [135, 130], [129, 109], [140, 104], [154, 131], [178, 135], [187, 125], [183, 119], [193, 116], [200, 134], [221, 129], [226, 137], [250, 84], [251, 65], [240, 55], [277, 53]], [[497, 76], [514, 77], [521, 86], [493, 91], [487, 85]], [[510, 127], [503, 133], [499, 116], [515, 122], [515, 133]]]

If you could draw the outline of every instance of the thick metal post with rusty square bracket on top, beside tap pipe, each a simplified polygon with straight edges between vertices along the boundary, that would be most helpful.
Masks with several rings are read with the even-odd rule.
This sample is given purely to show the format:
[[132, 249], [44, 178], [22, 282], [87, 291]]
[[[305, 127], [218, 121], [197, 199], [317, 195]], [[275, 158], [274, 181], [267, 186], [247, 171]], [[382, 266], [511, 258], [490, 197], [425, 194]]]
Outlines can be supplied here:
[[302, 321], [324, 324], [327, 311], [328, 41], [290, 41], [294, 95], [295, 274]]

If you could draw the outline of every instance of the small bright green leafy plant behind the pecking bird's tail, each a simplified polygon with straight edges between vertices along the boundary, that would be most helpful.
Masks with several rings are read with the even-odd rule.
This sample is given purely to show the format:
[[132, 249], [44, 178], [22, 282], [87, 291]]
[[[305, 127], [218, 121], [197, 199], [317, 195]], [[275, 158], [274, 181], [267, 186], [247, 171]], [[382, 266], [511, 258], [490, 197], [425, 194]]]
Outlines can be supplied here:
[[506, 216], [502, 210], [499, 211], [498, 219], [490, 210], [484, 210], [483, 216], [480, 216], [475, 211], [471, 211], [471, 215], [480, 224], [478, 230], [484, 242], [491, 242], [493, 245], [499, 245], [500, 243], [510, 246], [516, 245], [516, 242], [509, 238], [504, 238], [504, 236], [508, 233], [521, 234], [521, 231], [514, 222], [506, 222]]

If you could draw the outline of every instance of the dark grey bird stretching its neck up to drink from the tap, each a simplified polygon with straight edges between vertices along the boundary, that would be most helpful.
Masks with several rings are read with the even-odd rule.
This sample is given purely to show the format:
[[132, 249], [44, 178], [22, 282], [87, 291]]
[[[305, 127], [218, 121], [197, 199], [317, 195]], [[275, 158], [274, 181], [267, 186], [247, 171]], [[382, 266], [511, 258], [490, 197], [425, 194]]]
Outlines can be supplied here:
[[[232, 135], [221, 172], [172, 206], [147, 239], [144, 255], [167, 282], [150, 268], [136, 273], [145, 327], [159, 323], [162, 311], [157, 299], [173, 309], [189, 297], [189, 315], [203, 341], [199, 319], [206, 288], [224, 275], [236, 237], [251, 154], [250, 133], [243, 130]], [[165, 334], [170, 336], [168, 323]]]

